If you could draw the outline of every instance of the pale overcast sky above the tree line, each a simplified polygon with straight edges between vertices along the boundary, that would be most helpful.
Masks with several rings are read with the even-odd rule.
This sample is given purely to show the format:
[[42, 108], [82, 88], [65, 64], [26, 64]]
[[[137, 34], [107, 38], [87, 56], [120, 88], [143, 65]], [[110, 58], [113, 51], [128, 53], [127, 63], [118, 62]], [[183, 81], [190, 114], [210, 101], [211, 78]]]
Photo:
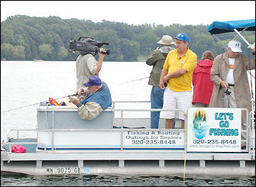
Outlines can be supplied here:
[[212, 24], [255, 18], [255, 1], [1, 1], [1, 22], [9, 16], [58, 16], [127, 24]]

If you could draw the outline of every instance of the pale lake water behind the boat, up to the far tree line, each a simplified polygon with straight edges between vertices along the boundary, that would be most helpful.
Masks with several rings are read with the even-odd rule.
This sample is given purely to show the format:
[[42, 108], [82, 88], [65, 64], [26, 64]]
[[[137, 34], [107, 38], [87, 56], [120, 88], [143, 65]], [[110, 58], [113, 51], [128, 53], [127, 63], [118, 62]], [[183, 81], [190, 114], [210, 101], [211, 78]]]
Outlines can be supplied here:
[[[51, 98], [73, 95], [76, 91], [75, 62], [1, 62], [1, 140], [10, 127], [34, 128], [36, 105]], [[150, 101], [147, 85], [151, 66], [143, 62], [103, 62], [100, 78], [109, 85], [112, 100]], [[130, 82], [136, 79], [138, 81]], [[20, 108], [31, 105], [29, 107]], [[8, 111], [13, 108], [18, 110]]]

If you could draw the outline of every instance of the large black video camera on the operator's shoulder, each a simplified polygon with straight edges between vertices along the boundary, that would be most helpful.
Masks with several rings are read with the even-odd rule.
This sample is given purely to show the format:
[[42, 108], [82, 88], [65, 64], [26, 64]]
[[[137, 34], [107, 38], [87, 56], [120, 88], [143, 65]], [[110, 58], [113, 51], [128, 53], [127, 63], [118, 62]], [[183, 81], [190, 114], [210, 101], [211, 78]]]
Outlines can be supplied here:
[[98, 51], [102, 54], [109, 54], [110, 50], [100, 50], [97, 48], [102, 47], [102, 45], [109, 45], [109, 43], [95, 41], [92, 37], [79, 37], [77, 41], [73, 39], [70, 40], [70, 52], [80, 53], [81, 55], [92, 54], [93, 56], [95, 56]]

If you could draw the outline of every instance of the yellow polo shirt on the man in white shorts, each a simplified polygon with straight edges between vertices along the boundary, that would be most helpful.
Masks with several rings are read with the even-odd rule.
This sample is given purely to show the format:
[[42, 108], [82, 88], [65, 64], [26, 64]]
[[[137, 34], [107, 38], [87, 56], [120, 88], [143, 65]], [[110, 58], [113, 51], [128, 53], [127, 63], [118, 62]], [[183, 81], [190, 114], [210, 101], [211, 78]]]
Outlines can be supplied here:
[[170, 78], [168, 86], [174, 92], [186, 92], [192, 90], [193, 70], [196, 67], [196, 53], [188, 49], [183, 56], [179, 56], [177, 50], [171, 50], [164, 62], [164, 69], [173, 73], [180, 68], [186, 69], [186, 73], [177, 78]]

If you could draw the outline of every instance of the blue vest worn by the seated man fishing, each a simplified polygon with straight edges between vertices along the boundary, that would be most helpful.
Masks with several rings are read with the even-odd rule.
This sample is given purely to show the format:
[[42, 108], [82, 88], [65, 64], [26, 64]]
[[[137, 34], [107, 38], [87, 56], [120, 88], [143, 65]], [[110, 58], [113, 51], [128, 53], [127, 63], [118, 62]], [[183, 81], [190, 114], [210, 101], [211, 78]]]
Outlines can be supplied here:
[[101, 106], [102, 110], [105, 110], [105, 108], [111, 107], [112, 98], [109, 92], [108, 85], [106, 85], [105, 82], [102, 82], [102, 88], [93, 94], [90, 93], [89, 96], [83, 99], [81, 103], [85, 105], [86, 102], [96, 102]]

